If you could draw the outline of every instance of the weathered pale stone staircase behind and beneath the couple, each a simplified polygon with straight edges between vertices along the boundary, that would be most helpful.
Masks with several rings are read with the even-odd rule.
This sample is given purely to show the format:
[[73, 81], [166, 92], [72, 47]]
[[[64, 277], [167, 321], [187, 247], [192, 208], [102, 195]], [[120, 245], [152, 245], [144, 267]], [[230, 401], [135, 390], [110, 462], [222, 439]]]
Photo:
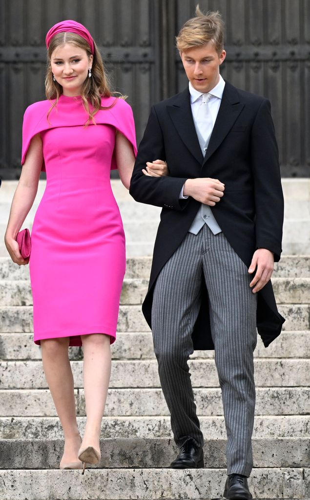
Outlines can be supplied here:
[[[308, 180], [302, 180], [310, 186]], [[62, 432], [46, 387], [40, 348], [32, 341], [28, 267], [13, 264], [0, 246], [0, 500], [222, 498], [226, 433], [211, 351], [196, 351], [190, 361], [205, 436], [205, 468], [168, 468], [176, 447], [151, 333], [141, 312], [151, 258], [139, 256], [151, 253], [159, 210], [141, 207], [130, 200], [119, 182], [112, 184], [124, 220], [129, 257], [117, 340], [112, 345], [102, 459], [98, 468], [87, 469], [83, 476], [80, 471], [58, 468]], [[249, 484], [254, 497], [261, 500], [310, 500], [310, 256], [306, 256], [310, 253], [310, 197], [307, 189], [300, 196], [300, 180], [293, 184], [284, 186], [289, 199], [286, 227], [292, 229], [285, 233], [285, 244], [286, 253], [297, 254], [284, 255], [273, 277], [279, 309], [287, 320], [280, 337], [267, 349], [259, 339], [255, 351], [255, 468]], [[0, 189], [0, 232], [13, 187], [13, 183], [3, 183]], [[43, 188], [40, 183], [38, 199]], [[298, 196], [305, 199], [298, 202]], [[33, 210], [24, 227], [31, 227], [32, 218]], [[70, 355], [82, 432], [82, 353], [74, 347]]]

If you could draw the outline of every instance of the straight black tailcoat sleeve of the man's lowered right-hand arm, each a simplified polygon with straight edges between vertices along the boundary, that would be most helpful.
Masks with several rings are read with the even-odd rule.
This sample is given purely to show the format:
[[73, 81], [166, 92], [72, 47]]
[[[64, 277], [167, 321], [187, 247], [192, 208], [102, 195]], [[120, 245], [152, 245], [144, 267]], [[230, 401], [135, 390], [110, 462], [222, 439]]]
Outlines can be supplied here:
[[282, 251], [284, 200], [278, 145], [268, 99], [263, 100], [253, 123], [251, 154], [256, 209], [256, 246], [274, 252], [277, 262]]

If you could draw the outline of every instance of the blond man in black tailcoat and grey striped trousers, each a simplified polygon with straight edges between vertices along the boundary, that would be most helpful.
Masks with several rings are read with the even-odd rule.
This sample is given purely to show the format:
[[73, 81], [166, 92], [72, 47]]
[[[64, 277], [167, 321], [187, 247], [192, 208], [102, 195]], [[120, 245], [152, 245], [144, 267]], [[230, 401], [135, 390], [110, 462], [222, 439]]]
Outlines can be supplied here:
[[[252, 498], [256, 325], [265, 346], [284, 318], [270, 277], [283, 225], [270, 102], [225, 82], [223, 24], [199, 6], [177, 37], [189, 86], [152, 107], [130, 193], [162, 206], [143, 313], [180, 452], [171, 467], [203, 467], [188, 358], [215, 348], [227, 429], [226, 498]], [[150, 176], [166, 160], [169, 176]], [[146, 166], [147, 165], [147, 166]]]

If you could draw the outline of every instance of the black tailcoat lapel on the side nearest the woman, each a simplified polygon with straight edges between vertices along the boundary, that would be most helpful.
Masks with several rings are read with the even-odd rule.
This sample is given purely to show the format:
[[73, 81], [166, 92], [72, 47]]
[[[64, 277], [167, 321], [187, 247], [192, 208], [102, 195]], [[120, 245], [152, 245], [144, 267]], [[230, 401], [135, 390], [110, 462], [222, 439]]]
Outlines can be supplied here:
[[195, 130], [188, 88], [176, 96], [174, 104], [167, 106], [167, 111], [184, 144], [202, 164], [203, 155]]

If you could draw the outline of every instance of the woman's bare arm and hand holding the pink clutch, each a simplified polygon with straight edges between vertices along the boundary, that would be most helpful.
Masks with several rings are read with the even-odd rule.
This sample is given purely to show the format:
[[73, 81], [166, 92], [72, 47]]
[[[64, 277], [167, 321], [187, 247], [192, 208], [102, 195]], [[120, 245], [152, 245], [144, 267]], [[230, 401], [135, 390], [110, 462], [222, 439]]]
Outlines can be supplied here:
[[26, 159], [21, 170], [4, 236], [7, 251], [13, 262], [18, 265], [27, 264], [29, 261], [28, 258], [24, 259], [20, 255], [16, 236], [33, 204], [37, 192], [42, 161], [42, 141], [40, 135], [36, 134], [31, 139]]

